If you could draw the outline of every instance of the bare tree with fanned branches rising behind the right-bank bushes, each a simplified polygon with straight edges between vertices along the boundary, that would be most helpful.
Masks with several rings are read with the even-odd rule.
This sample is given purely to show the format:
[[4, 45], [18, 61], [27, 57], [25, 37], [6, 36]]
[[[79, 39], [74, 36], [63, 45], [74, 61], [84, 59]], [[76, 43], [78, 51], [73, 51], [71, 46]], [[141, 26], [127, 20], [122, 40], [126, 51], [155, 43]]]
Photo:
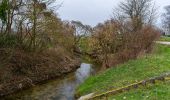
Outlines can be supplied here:
[[[116, 11], [116, 10], [115, 10]], [[142, 28], [144, 24], [152, 24], [156, 15], [156, 8], [153, 0], [125, 0], [120, 3], [114, 12], [117, 18], [132, 23], [132, 30]]]

